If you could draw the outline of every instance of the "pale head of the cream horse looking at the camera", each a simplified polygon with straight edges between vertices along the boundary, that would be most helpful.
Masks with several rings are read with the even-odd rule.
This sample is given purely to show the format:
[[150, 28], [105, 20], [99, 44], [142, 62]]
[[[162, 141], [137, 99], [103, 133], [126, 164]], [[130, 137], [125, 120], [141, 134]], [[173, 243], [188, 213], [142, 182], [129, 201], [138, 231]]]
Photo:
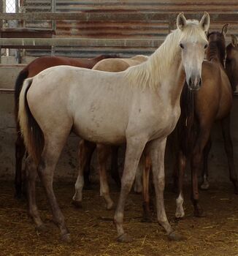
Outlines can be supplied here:
[[185, 69], [186, 81], [191, 90], [201, 87], [201, 64], [207, 48], [207, 31], [210, 26], [210, 16], [204, 12], [200, 22], [186, 20], [183, 12], [177, 16], [177, 28], [180, 29], [180, 48], [182, 63]]

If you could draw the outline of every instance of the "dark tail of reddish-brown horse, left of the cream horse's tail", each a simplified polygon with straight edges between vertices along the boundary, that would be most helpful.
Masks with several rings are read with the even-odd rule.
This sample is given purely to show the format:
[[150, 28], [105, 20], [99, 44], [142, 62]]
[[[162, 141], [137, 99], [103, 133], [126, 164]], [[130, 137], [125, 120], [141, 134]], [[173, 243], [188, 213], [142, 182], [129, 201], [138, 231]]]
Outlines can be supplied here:
[[17, 123], [17, 129], [19, 130], [19, 122], [18, 122], [18, 111], [19, 111], [19, 96], [20, 91], [23, 88], [24, 80], [28, 78], [28, 69], [23, 69], [20, 71], [17, 80], [15, 81], [15, 121]]

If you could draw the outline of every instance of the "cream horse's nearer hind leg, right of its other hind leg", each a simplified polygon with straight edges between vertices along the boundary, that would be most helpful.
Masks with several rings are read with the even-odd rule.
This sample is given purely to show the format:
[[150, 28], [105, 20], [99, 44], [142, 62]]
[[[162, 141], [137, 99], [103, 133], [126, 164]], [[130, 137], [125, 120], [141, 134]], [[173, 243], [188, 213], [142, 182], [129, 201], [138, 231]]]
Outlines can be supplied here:
[[[69, 136], [69, 129], [64, 129], [64, 127], [59, 126], [60, 131], [56, 131], [54, 134], [47, 134], [45, 136], [45, 147], [42, 152], [42, 157], [38, 166], [38, 175], [42, 184], [45, 187], [47, 194], [47, 199], [50, 203], [52, 213], [53, 213], [53, 222], [61, 230], [61, 239], [63, 241], [70, 241], [69, 230], [66, 227], [64, 221], [64, 215], [61, 212], [61, 209], [58, 206], [57, 200], [55, 198], [55, 193], [53, 192], [53, 173], [55, 170], [55, 165], [58, 162], [58, 158], [61, 154], [66, 138]], [[61, 131], [64, 131], [64, 134], [61, 134]]]

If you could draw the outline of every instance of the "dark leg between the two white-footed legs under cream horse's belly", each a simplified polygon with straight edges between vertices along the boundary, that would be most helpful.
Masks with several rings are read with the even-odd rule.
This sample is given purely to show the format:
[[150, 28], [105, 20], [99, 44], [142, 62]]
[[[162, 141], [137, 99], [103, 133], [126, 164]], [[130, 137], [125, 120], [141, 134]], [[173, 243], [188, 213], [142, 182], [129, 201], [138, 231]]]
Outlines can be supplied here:
[[[80, 140], [81, 143], [82, 140]], [[91, 181], [90, 181], [90, 164], [91, 164], [91, 159], [93, 157], [93, 152], [96, 148], [96, 144], [95, 143], [91, 143], [89, 141], [85, 140], [85, 143], [83, 143], [83, 145], [80, 144], [79, 148], [84, 147], [84, 167], [83, 167], [83, 178], [84, 178], [84, 189], [91, 189]], [[79, 149], [79, 151], [81, 151], [81, 149]], [[80, 152], [79, 152], [80, 154]]]

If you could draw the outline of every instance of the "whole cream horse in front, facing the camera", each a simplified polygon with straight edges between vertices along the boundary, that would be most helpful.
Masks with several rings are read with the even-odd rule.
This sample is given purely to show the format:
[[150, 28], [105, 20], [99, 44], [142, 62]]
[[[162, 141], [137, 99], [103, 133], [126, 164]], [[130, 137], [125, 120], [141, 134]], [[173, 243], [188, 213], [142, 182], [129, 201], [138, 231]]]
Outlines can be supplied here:
[[180, 95], [185, 79], [191, 90], [199, 90], [201, 86], [201, 64], [209, 26], [207, 12], [200, 22], [186, 20], [180, 13], [177, 29], [166, 37], [158, 50], [144, 63], [126, 71], [102, 72], [58, 66], [26, 79], [20, 92], [19, 120], [29, 154], [26, 161], [29, 214], [37, 227], [44, 227], [34, 191], [38, 172], [61, 238], [70, 240], [53, 192], [53, 173], [73, 130], [94, 143], [126, 143], [114, 217], [118, 241], [130, 241], [123, 230], [124, 207], [143, 151], [152, 161], [158, 222], [170, 239], [181, 239], [169, 224], [164, 209], [164, 150], [166, 137], [180, 116]]

